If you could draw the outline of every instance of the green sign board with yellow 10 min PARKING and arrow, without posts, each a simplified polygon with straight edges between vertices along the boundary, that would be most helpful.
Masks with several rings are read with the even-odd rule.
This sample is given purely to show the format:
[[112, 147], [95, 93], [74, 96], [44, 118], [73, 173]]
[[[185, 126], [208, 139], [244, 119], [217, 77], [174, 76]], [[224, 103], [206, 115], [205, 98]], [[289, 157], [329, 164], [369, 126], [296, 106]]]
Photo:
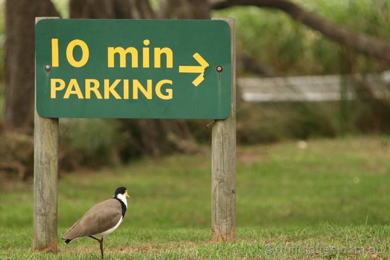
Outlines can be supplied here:
[[223, 119], [230, 27], [220, 20], [41, 20], [42, 117]]

